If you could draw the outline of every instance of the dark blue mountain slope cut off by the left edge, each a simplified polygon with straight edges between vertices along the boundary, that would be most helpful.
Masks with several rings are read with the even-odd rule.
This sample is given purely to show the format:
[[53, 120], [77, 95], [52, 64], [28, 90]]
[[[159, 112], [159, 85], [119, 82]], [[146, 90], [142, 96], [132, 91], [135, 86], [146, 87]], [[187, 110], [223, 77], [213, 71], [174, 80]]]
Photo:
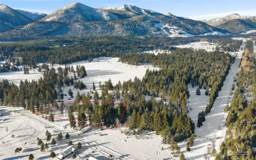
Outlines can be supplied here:
[[30, 22], [33, 20], [20, 12], [6, 5], [0, 5], [0, 32], [21, 28]]

